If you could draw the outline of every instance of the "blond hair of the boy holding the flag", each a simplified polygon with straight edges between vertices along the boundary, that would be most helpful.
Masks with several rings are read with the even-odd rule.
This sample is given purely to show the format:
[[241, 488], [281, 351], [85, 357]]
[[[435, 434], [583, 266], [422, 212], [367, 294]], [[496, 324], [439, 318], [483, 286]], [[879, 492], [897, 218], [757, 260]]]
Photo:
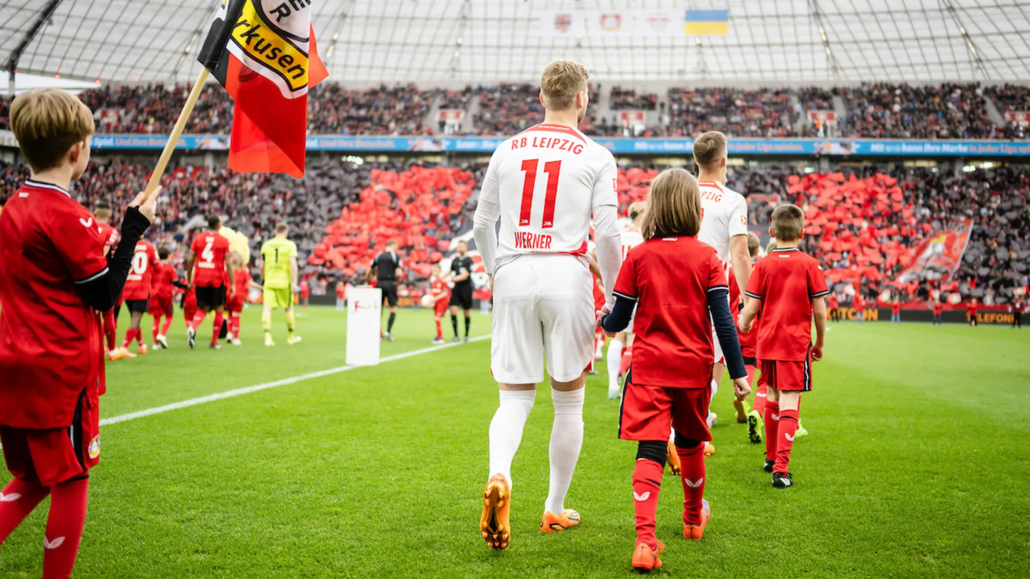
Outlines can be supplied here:
[[33, 171], [57, 167], [68, 149], [93, 135], [93, 113], [58, 89], [30, 91], [10, 105], [10, 128]]

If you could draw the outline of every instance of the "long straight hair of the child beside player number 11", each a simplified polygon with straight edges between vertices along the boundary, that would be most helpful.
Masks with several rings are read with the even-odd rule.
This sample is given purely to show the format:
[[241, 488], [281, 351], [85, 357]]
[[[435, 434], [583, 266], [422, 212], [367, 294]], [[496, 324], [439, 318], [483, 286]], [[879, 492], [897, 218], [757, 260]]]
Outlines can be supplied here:
[[694, 237], [701, 228], [701, 195], [697, 179], [684, 169], [665, 169], [651, 181], [647, 212], [641, 222], [644, 239]]

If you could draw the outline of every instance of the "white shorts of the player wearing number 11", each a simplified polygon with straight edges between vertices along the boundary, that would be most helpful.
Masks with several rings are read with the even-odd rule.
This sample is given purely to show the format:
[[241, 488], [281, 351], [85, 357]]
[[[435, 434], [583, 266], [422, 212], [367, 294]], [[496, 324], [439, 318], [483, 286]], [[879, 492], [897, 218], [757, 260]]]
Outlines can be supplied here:
[[521, 256], [493, 275], [490, 369], [497, 382], [579, 378], [593, 359], [593, 279], [580, 258]]

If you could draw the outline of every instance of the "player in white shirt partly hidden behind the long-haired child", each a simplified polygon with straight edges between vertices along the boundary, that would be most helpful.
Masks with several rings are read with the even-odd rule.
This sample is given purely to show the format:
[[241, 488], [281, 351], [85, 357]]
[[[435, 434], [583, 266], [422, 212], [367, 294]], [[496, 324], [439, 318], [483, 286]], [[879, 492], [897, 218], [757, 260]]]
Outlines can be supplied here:
[[[694, 141], [694, 162], [697, 164], [697, 185], [701, 193], [701, 229], [697, 239], [715, 248], [726, 269], [733, 268], [741, 295], [751, 279], [751, 253], [748, 252], [748, 203], [744, 196], [726, 186], [726, 135], [718, 131], [702, 133]], [[739, 311], [737, 304], [730, 304], [729, 311]], [[722, 346], [713, 335], [715, 364], [712, 368], [712, 397], [719, 389], [719, 380], [725, 368]], [[736, 405], [737, 401], [734, 403]], [[737, 409], [739, 421], [747, 421]], [[740, 418], [743, 417], [743, 420]], [[715, 413], [709, 412], [709, 424], [715, 423]]]

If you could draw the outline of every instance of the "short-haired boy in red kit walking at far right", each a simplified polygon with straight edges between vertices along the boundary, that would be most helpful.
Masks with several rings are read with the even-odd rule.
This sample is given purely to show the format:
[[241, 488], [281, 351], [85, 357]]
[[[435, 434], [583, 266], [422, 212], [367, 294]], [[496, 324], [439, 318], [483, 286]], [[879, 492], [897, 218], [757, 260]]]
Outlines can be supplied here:
[[[758, 327], [758, 367], [765, 382], [765, 472], [772, 486], [788, 488], [793, 478], [787, 467], [798, 431], [801, 393], [812, 389], [812, 362], [823, 357], [826, 302], [830, 292], [817, 262], [797, 245], [804, 234], [804, 212], [796, 205], [772, 211], [769, 235], [777, 248], [755, 266], [745, 294], [751, 298], [741, 313], [740, 329]], [[856, 300], [861, 298], [856, 294]], [[816, 343], [812, 343], [812, 322]]]

